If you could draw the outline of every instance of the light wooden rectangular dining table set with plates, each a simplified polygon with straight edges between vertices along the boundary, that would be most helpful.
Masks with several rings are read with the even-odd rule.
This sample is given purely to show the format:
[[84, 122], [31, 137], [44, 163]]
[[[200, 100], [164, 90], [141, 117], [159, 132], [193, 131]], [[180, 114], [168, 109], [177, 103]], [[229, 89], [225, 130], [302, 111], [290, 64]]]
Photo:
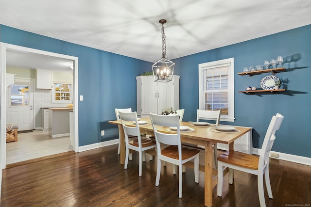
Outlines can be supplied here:
[[[147, 124], [139, 125], [140, 132], [142, 134], [154, 135], [154, 130], [149, 117], [141, 118], [142, 121], [147, 121]], [[122, 123], [120, 120], [108, 121], [110, 124], [115, 124], [119, 126], [120, 133], [120, 163], [124, 164], [125, 162], [125, 143], [124, 143], [124, 131], [122, 128]], [[133, 123], [129, 123], [135, 126]], [[236, 130], [233, 132], [224, 132], [224, 131], [215, 131], [214, 126], [194, 126], [192, 122], [180, 122], [180, 126], [188, 126], [193, 128], [192, 132], [182, 132], [180, 133], [181, 142], [190, 143], [195, 145], [204, 146], [204, 165], [200, 165], [200, 171], [205, 173], [205, 199], [204, 204], [207, 207], [211, 207], [213, 204], [213, 195], [212, 191], [214, 186], [217, 185], [217, 170], [213, 169], [213, 144], [216, 143], [225, 143], [228, 144], [229, 150], [234, 149], [234, 141], [249, 132], [251, 127], [238, 127], [234, 126]], [[158, 127], [158, 126], [157, 126]], [[169, 127], [158, 127], [157, 130], [170, 133], [168, 131]], [[171, 132], [174, 133], [174, 132]], [[155, 151], [149, 150], [147, 153], [151, 155], [156, 155]], [[185, 163], [186, 166], [193, 168], [193, 162]], [[224, 173], [225, 175], [225, 173]]]

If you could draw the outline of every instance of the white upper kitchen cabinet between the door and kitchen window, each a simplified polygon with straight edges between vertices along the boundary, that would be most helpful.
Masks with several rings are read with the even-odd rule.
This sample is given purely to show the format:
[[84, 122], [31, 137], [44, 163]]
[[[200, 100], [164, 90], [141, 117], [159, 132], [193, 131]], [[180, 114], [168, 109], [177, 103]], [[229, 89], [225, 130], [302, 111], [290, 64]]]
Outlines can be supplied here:
[[53, 72], [49, 70], [35, 70], [35, 88], [36, 89], [52, 89]]

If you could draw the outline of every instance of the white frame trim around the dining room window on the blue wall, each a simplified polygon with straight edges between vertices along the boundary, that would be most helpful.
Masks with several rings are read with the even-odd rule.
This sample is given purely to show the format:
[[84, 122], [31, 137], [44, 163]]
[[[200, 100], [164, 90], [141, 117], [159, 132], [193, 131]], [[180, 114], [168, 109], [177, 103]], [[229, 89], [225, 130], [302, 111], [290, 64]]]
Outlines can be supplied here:
[[229, 91], [229, 114], [228, 115], [221, 115], [220, 120], [221, 121], [227, 121], [227, 122], [234, 122], [234, 58], [228, 58], [224, 60], [219, 60], [219, 61], [213, 61], [213, 62], [208, 62], [208, 63], [203, 63], [199, 64], [199, 109], [203, 110], [205, 109], [203, 100], [203, 77], [202, 73], [203, 70], [214, 68], [214, 67], [221, 67], [221, 66], [228, 66], [228, 91]]

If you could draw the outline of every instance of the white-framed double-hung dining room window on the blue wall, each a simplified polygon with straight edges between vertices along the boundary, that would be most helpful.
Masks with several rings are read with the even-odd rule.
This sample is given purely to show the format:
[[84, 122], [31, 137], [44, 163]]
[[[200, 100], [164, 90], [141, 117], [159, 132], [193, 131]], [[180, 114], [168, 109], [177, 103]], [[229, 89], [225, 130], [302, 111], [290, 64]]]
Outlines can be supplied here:
[[234, 121], [234, 59], [199, 64], [199, 109], [221, 110], [222, 121]]

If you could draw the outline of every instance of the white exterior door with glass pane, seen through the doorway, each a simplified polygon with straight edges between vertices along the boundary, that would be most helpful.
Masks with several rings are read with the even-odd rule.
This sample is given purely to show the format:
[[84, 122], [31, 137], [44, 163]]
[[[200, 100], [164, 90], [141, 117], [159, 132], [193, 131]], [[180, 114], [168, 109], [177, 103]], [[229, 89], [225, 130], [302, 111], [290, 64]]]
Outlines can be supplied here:
[[16, 78], [8, 87], [6, 123], [18, 131], [34, 129], [34, 80]]

